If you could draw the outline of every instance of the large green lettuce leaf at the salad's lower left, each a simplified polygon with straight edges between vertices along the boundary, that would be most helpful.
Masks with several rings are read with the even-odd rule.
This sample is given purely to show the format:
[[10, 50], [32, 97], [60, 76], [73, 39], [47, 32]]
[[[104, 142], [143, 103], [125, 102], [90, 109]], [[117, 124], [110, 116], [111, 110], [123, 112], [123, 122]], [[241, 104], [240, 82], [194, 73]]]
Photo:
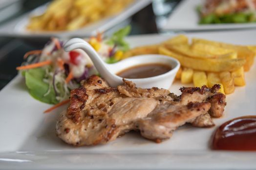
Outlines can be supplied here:
[[50, 93], [44, 96], [44, 94], [48, 91], [49, 85], [43, 82], [45, 75], [45, 70], [43, 68], [29, 69], [25, 71], [24, 75], [26, 86], [32, 97], [34, 97], [36, 100], [49, 104], [58, 103], [53, 87], [51, 88]]

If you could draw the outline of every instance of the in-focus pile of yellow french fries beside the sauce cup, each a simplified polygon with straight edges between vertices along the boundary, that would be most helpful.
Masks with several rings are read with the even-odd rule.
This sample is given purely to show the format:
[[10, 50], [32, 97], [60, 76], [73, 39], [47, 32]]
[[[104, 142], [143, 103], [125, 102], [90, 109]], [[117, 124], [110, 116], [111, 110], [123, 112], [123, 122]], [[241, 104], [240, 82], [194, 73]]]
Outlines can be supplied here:
[[256, 46], [238, 46], [206, 39], [175, 36], [160, 44], [137, 47], [127, 51], [124, 58], [139, 54], [164, 54], [176, 58], [181, 68], [176, 79], [183, 84], [201, 87], [220, 85], [220, 92], [231, 94], [235, 86], [244, 86], [244, 71], [254, 63]]

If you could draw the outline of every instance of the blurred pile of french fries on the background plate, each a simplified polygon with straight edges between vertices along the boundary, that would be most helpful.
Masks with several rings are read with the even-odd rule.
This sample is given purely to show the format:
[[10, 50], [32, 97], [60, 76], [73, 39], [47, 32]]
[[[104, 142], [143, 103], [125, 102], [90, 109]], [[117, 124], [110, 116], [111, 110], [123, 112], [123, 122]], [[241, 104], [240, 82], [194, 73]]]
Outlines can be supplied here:
[[54, 0], [43, 15], [32, 16], [31, 31], [76, 30], [104, 17], [115, 15], [133, 0]]

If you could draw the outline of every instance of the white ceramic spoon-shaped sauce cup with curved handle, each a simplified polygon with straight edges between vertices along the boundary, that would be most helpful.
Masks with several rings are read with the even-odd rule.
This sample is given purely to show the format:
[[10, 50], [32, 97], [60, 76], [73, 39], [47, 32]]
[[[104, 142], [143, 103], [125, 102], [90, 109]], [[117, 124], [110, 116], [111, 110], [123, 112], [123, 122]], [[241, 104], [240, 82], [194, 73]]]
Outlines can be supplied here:
[[159, 54], [137, 55], [121, 60], [114, 64], [107, 64], [101, 59], [101, 57], [90, 46], [90, 44], [88, 44], [83, 39], [73, 38], [64, 44], [65, 51], [72, 51], [75, 49], [81, 49], [85, 51], [92, 60], [95, 68], [99, 71], [101, 77], [103, 77], [107, 83], [113, 87], [123, 85], [123, 78], [116, 75], [118, 72], [138, 65], [160, 63], [168, 65], [172, 69], [164, 74], [154, 77], [126, 80], [134, 82], [137, 87], [141, 88], [158, 87], [170, 89], [175, 75], [180, 68], [180, 63], [178, 60], [170, 56]]

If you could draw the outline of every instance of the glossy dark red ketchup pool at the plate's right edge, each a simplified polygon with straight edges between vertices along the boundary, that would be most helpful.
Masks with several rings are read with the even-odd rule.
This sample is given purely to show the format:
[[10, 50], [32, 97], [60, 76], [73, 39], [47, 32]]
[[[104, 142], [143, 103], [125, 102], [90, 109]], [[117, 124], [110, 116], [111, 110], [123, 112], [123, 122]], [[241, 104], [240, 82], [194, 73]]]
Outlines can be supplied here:
[[223, 123], [213, 136], [214, 150], [256, 151], [256, 116]]

